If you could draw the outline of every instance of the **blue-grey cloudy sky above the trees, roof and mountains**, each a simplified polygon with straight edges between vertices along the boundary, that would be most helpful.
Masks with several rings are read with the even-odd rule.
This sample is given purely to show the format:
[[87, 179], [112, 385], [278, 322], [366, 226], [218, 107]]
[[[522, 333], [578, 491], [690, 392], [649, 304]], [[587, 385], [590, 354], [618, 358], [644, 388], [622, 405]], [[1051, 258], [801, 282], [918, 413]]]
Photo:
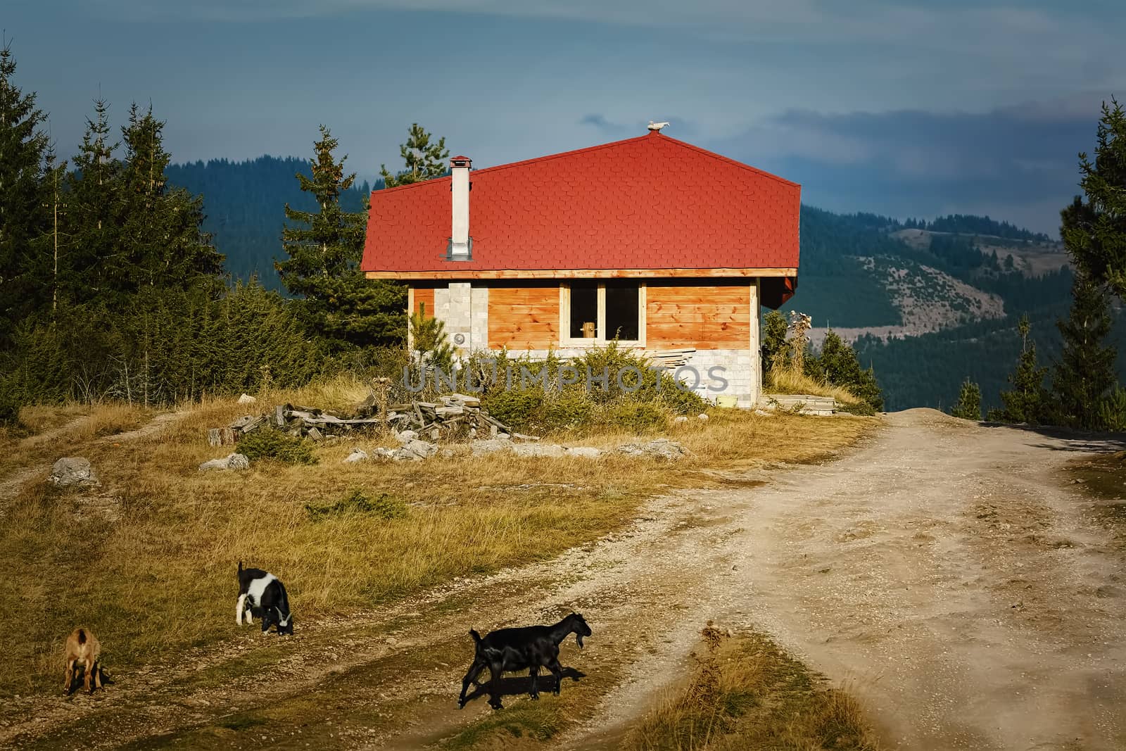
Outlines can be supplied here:
[[175, 161], [306, 157], [323, 123], [361, 177], [415, 122], [481, 168], [652, 119], [807, 204], [1053, 235], [1126, 99], [1117, 0], [5, 0], [0, 27], [62, 154], [99, 96], [151, 102]]

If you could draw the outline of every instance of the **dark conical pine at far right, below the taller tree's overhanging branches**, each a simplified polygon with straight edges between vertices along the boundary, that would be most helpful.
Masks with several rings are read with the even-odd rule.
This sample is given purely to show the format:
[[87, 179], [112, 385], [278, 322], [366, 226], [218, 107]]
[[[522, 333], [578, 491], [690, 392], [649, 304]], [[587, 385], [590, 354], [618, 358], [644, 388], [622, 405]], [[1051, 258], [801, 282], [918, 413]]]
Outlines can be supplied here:
[[1110, 301], [1106, 287], [1085, 274], [1072, 284], [1071, 315], [1057, 321], [1063, 336], [1060, 361], [1052, 368], [1052, 396], [1060, 420], [1075, 428], [1099, 427], [1099, 401], [1115, 386], [1114, 346], [1110, 333]]

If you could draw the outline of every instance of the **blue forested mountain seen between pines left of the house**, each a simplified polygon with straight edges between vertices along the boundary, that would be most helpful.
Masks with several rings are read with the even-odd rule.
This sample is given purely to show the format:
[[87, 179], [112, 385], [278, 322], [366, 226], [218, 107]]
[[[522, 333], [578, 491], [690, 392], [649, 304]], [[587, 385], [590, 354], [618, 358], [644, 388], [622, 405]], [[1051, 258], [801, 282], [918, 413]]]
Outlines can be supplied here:
[[[204, 197], [204, 231], [226, 256], [226, 270], [240, 279], [257, 275], [269, 289], [282, 289], [274, 259], [282, 252], [285, 205], [297, 211], [315, 211], [313, 197], [302, 191], [296, 173], [311, 177], [309, 160], [295, 157], [259, 157], [243, 162], [212, 159], [207, 162], [172, 164], [169, 182]], [[377, 180], [377, 188], [383, 181]], [[372, 191], [363, 182], [340, 196], [346, 212], [358, 212]]]

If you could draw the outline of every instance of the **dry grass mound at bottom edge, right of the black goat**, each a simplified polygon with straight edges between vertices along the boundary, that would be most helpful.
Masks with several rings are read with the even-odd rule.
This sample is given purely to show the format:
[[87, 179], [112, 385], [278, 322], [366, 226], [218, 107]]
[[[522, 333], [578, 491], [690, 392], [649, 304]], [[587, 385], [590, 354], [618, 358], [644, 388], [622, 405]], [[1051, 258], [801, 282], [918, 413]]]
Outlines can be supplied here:
[[626, 751], [878, 749], [857, 701], [761, 634], [713, 627], [688, 685], [627, 734]]

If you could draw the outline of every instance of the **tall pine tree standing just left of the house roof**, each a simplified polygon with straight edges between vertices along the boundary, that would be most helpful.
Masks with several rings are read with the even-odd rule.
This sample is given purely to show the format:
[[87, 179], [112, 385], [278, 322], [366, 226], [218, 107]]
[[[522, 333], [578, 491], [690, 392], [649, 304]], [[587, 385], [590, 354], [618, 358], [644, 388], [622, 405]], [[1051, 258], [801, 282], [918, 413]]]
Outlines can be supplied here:
[[322, 125], [313, 145], [313, 177], [297, 173], [301, 189], [313, 195], [320, 211], [298, 212], [286, 204], [291, 224], [282, 241], [288, 259], [275, 268], [286, 289], [302, 297], [306, 325], [334, 349], [402, 341], [406, 292], [395, 283], [366, 279], [359, 270], [367, 212], [348, 213], [340, 206], [340, 195], [356, 175], [345, 175], [347, 157], [336, 160], [337, 145]]

